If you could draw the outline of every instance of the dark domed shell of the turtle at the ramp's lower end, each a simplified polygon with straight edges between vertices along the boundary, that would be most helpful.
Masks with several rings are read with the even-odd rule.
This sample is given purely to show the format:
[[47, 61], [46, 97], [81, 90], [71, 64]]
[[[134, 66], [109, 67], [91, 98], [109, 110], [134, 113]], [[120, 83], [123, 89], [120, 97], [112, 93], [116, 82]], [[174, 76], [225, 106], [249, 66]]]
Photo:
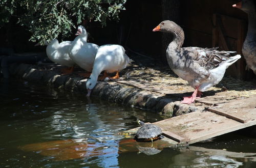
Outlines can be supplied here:
[[151, 138], [156, 139], [161, 133], [163, 132], [160, 127], [154, 124], [145, 124], [138, 129], [135, 137], [138, 139], [144, 139], [145, 141], [151, 141]]

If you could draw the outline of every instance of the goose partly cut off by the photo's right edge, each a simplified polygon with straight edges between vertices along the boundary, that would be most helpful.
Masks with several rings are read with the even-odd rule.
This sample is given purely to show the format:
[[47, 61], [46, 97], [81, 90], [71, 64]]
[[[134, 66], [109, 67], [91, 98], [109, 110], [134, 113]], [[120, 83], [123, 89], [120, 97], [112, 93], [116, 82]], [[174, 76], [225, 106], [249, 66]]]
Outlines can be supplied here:
[[256, 4], [252, 0], [243, 0], [234, 4], [234, 8], [241, 9], [248, 15], [248, 31], [243, 44], [242, 52], [247, 67], [256, 74]]

